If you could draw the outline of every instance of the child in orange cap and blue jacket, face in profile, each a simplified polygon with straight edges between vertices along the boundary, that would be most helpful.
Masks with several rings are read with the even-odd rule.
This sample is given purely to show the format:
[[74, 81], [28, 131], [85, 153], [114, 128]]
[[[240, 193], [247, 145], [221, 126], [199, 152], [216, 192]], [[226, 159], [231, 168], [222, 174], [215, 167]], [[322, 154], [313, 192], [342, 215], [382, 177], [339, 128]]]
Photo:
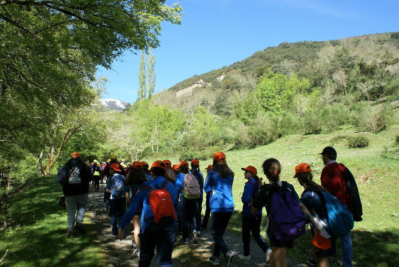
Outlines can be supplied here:
[[244, 186], [243, 196], [241, 196], [241, 201], [243, 202], [242, 215], [242, 235], [243, 235], [243, 245], [244, 254], [238, 255], [239, 259], [250, 261], [251, 255], [249, 251], [249, 242], [251, 240], [252, 233], [253, 238], [259, 247], [266, 254], [266, 262], [269, 262], [270, 253], [272, 250], [267, 246], [265, 239], [261, 236], [261, 222], [262, 222], [262, 209], [260, 209], [256, 214], [251, 212], [252, 202], [258, 195], [259, 190], [259, 177], [258, 172], [254, 166], [248, 166], [247, 168], [241, 168], [244, 170], [244, 178], [248, 180]]

